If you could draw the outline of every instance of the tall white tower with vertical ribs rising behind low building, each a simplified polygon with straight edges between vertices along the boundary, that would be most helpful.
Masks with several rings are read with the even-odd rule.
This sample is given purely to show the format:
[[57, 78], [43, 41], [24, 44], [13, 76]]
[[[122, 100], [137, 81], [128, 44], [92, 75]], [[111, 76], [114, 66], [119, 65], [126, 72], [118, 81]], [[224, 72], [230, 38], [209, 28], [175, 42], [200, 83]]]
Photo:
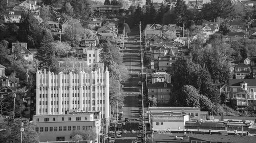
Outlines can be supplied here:
[[109, 71], [36, 72], [36, 115], [65, 115], [72, 109], [101, 111], [99, 118], [109, 121]]

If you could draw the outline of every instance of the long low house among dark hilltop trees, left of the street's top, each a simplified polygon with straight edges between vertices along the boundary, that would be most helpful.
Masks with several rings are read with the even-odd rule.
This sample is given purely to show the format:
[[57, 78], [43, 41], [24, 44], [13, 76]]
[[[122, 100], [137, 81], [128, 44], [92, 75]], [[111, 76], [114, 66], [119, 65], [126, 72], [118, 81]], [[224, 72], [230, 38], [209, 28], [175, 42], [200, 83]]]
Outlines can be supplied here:
[[114, 5], [92, 5], [95, 11], [99, 13], [119, 13], [119, 10], [122, 6], [114, 6]]

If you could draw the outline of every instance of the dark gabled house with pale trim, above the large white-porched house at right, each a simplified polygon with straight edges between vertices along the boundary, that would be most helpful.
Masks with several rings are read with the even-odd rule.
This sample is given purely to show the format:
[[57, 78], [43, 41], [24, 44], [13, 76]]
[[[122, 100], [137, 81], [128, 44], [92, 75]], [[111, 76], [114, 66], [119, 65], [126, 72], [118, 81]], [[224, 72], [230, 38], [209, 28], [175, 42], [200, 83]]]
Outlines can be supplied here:
[[236, 79], [244, 79], [245, 77], [250, 77], [251, 68], [250, 65], [238, 64], [234, 67], [234, 72], [236, 74]]

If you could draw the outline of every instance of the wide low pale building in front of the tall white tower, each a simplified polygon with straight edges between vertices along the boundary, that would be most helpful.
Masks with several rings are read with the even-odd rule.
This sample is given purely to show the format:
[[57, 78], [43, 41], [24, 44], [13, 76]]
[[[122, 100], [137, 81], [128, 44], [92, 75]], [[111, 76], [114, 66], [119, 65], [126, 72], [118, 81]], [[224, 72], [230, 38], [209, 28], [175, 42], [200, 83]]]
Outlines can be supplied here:
[[67, 115], [35, 115], [35, 131], [40, 133], [40, 141], [72, 140], [73, 132], [88, 131], [92, 133], [93, 142], [99, 142], [99, 131], [104, 132], [104, 124], [94, 119], [92, 113], [76, 112]]

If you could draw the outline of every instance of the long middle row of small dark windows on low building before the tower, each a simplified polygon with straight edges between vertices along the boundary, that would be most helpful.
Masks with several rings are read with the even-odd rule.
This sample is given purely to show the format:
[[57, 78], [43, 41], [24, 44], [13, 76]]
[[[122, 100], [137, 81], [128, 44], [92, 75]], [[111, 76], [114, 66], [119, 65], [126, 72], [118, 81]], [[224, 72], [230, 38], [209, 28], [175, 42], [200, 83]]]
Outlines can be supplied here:
[[[80, 130], [92, 130], [93, 127], [92, 126], [82, 126], [82, 128], [80, 128], [81, 126], [59, 126], [59, 127], [35, 127], [35, 131], [36, 132], [52, 132], [52, 131], [80, 131]], [[44, 129], [45, 128], [45, 129]], [[39, 130], [40, 129], [40, 130]]]

